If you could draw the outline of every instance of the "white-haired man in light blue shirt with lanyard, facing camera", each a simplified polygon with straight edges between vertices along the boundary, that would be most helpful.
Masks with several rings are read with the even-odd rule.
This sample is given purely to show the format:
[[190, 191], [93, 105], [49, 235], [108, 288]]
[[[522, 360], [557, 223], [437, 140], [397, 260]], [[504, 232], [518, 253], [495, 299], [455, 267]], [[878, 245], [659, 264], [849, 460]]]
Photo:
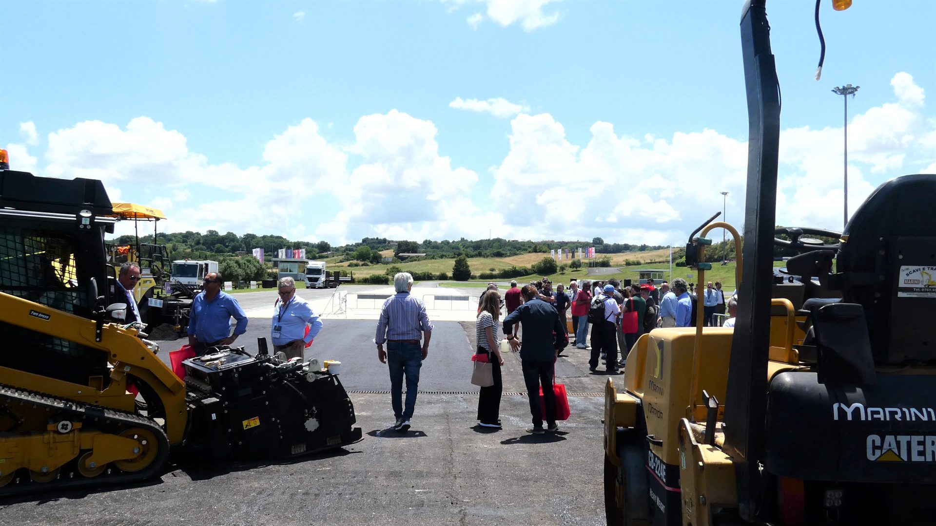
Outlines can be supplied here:
[[273, 350], [284, 353], [286, 359], [303, 358], [303, 349], [322, 329], [322, 321], [306, 300], [296, 296], [296, 281], [288, 276], [280, 278], [280, 297], [273, 306], [271, 327]]

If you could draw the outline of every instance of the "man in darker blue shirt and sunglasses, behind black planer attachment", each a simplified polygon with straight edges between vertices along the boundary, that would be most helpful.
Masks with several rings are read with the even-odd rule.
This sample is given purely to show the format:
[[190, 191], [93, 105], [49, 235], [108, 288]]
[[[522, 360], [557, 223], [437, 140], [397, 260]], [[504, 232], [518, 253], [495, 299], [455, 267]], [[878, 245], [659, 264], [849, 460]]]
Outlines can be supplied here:
[[[188, 344], [195, 349], [196, 356], [216, 345], [230, 345], [247, 331], [247, 315], [241, 305], [221, 290], [221, 274], [205, 274], [205, 287], [192, 301], [192, 312], [188, 317]], [[231, 334], [231, 316], [237, 320]]]

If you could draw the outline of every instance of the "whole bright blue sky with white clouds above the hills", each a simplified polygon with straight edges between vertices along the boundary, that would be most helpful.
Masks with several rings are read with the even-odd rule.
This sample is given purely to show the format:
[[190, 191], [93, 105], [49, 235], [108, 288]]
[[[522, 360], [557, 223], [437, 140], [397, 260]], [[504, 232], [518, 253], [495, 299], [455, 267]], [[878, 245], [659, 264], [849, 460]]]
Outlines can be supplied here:
[[[768, 3], [778, 223], [841, 228], [936, 171], [936, 3]], [[169, 231], [290, 239], [680, 243], [730, 192], [747, 113], [741, 3], [0, 2], [11, 168], [96, 177]]]

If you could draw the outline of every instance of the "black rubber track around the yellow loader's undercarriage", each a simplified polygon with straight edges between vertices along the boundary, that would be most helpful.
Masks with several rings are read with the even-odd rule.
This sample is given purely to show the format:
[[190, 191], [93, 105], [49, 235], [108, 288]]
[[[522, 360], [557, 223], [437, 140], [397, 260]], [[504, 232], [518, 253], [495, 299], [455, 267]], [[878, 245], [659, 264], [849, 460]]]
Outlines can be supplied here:
[[26, 471], [21, 469], [7, 486], [0, 488], [0, 498], [13, 495], [28, 495], [43, 491], [80, 489], [82, 487], [96, 489], [104, 485], [136, 482], [158, 474], [168, 461], [169, 443], [166, 432], [153, 420], [148, 418], [118, 411], [109, 407], [75, 402], [73, 400], [61, 399], [0, 384], [0, 405], [17, 404], [18, 402], [20, 404], [33, 405], [37, 408], [46, 408], [50, 411], [54, 411], [57, 415], [69, 416], [71, 421], [81, 422], [83, 424], [82, 430], [95, 429], [96, 422], [107, 424], [107, 427], [110, 429], [97, 429], [110, 434], [119, 434], [131, 428], [145, 428], [154, 433], [159, 448], [157, 449], [157, 456], [153, 462], [148, 467], [138, 472], [123, 472], [115, 466], [110, 466], [105, 473], [95, 477], [88, 478], [80, 475], [77, 469], [74, 471], [73, 476], [68, 477], [65, 471], [66, 467], [70, 464], [69, 461], [63, 465], [62, 473], [59, 474], [58, 478], [51, 482], [40, 483], [30, 480]]

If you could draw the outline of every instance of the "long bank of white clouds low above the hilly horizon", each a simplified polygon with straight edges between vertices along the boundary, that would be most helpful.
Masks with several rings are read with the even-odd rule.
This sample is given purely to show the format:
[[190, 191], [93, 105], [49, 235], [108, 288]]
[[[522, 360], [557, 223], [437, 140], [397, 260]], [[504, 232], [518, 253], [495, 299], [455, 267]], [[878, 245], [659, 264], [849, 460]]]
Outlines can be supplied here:
[[[893, 86], [896, 102], [849, 124], [851, 212], [887, 179], [936, 171], [936, 121], [923, 112], [922, 90], [902, 74]], [[456, 99], [453, 107], [493, 113], [497, 100], [511, 104]], [[344, 146], [303, 119], [271, 138], [261, 162], [246, 168], [210, 162], [188, 149], [180, 131], [148, 117], [123, 128], [82, 122], [49, 135], [41, 174], [102, 179], [114, 200], [168, 211], [161, 231], [344, 243], [480, 239], [492, 230], [509, 239], [680, 243], [722, 211], [722, 191], [729, 192], [728, 221], [741, 226], [744, 139], [712, 129], [632, 137], [599, 121], [587, 141], [574, 141], [552, 115], [524, 112], [515, 113], [510, 130], [503, 159], [484, 176], [490, 194], [479, 198], [477, 174], [440, 152], [436, 125], [398, 110], [360, 117]], [[841, 128], [782, 130], [778, 224], [841, 228], [841, 137]], [[35, 172], [37, 157], [26, 145], [7, 150], [12, 168]]]

